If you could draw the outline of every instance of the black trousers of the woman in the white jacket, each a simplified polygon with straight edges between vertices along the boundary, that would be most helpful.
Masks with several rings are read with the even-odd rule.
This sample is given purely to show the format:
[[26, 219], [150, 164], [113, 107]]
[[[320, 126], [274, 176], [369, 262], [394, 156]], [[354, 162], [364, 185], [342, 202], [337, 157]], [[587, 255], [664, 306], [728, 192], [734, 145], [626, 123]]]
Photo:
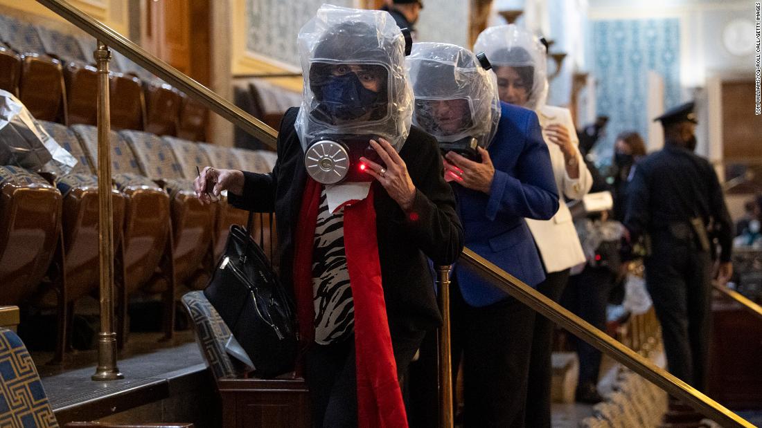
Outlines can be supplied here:
[[[540, 293], [558, 302], [569, 278], [569, 269], [546, 274], [537, 286]], [[532, 334], [532, 350], [527, 384], [527, 426], [550, 428], [550, 382], [553, 377], [551, 353], [554, 324], [543, 315], [536, 315]]]

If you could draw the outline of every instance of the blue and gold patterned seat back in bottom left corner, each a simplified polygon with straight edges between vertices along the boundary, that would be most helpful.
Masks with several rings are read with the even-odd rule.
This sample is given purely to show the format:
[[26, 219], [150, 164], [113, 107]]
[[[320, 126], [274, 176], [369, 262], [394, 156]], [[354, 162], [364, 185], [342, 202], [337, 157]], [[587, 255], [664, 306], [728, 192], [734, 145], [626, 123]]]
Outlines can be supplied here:
[[0, 328], [0, 426], [59, 426], [27, 347], [6, 328]]

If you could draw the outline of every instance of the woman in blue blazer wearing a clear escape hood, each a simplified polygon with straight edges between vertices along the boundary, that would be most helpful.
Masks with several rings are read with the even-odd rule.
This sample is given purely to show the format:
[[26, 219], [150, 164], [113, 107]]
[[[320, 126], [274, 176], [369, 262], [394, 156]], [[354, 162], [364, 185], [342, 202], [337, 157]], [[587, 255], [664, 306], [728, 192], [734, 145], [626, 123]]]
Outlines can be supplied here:
[[[524, 217], [549, 219], [559, 196], [536, 114], [498, 100], [487, 64], [459, 46], [415, 43], [413, 120], [440, 141], [466, 246], [536, 286], [545, 275]], [[465, 426], [523, 426], [532, 309], [460, 265], [452, 296]]]

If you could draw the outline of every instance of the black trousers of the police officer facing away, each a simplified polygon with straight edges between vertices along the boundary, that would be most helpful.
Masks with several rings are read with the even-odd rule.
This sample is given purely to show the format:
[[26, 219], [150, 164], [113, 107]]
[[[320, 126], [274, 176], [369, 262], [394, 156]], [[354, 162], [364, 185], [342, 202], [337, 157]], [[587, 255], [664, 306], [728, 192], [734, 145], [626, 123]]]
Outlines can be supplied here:
[[693, 239], [652, 235], [645, 285], [661, 322], [669, 372], [704, 390], [709, 353], [711, 258]]

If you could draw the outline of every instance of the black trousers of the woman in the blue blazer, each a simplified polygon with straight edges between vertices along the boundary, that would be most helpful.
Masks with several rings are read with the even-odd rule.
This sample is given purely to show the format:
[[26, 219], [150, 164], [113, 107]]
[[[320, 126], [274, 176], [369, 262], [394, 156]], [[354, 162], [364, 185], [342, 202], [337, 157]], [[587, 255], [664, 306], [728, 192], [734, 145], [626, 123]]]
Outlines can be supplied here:
[[524, 426], [535, 312], [513, 297], [469, 306], [453, 275], [450, 287], [453, 373], [463, 358], [463, 425]]

